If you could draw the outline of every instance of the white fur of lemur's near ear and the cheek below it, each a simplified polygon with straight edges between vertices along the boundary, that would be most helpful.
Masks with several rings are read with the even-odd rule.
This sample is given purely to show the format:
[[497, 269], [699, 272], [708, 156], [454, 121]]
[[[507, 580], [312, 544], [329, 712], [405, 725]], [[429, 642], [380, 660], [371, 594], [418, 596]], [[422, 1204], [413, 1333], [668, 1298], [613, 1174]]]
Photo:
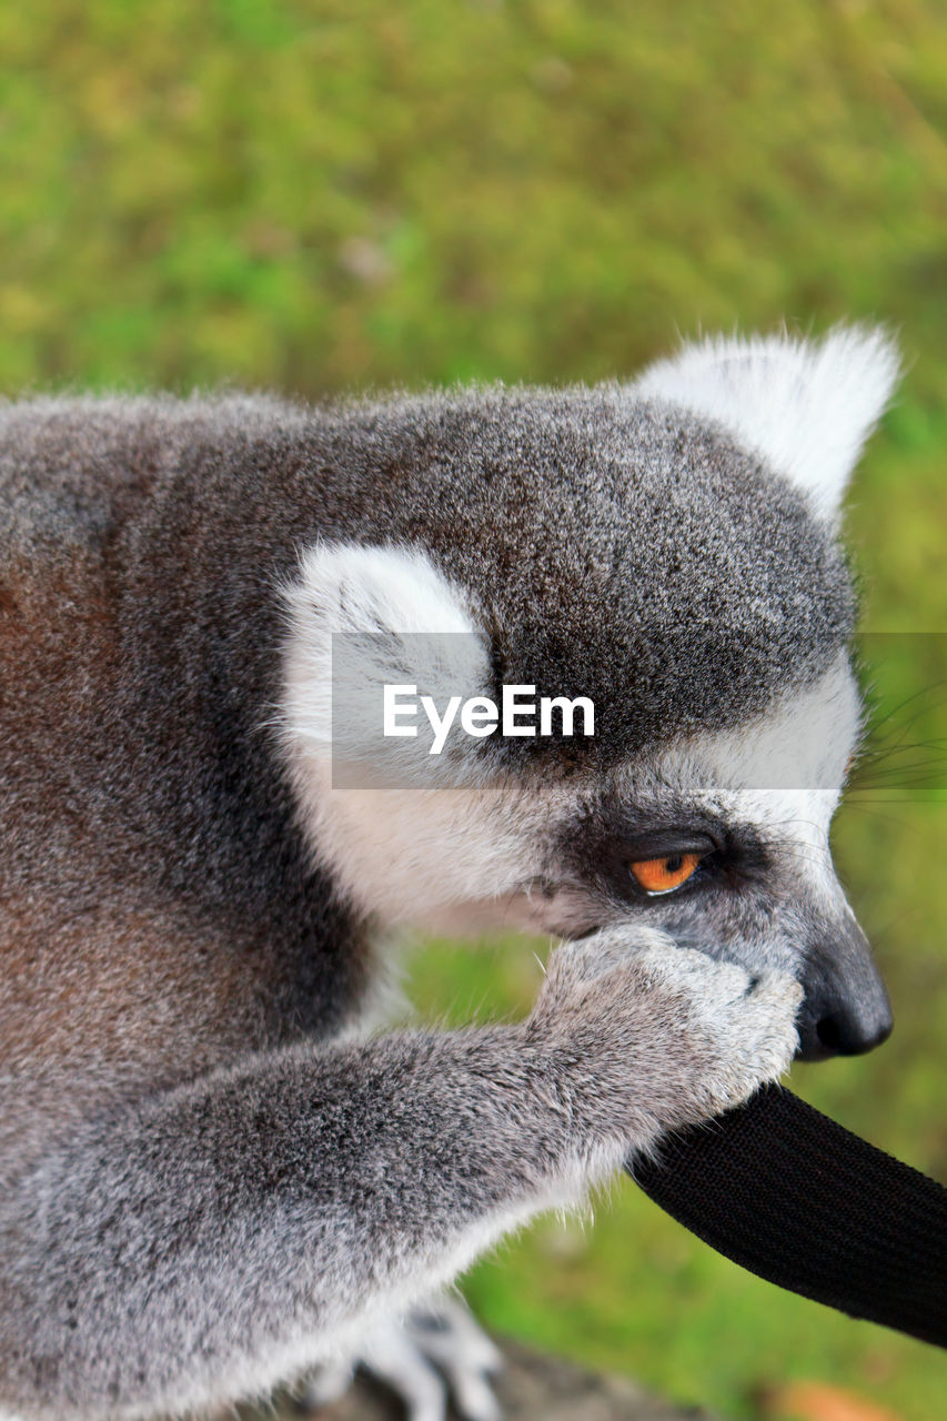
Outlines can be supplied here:
[[[486, 641], [461, 594], [421, 553], [344, 544], [310, 550], [284, 595], [284, 753], [314, 851], [353, 901], [385, 922], [427, 922], [529, 880], [549, 807], [523, 796], [519, 784], [481, 783], [479, 742], [468, 763], [428, 756], [418, 740], [392, 742], [398, 759], [388, 769], [395, 764], [402, 776], [394, 787], [340, 787], [336, 773], [364, 743], [360, 716], [367, 708], [355, 696], [333, 716], [340, 682], [408, 679], [438, 698], [459, 681], [468, 693], [488, 685]], [[381, 635], [351, 642], [338, 635], [358, 632]], [[428, 644], [417, 634], [437, 637]], [[418, 665], [428, 645], [431, 659]], [[347, 664], [341, 676], [336, 666], [333, 676], [333, 648], [336, 657], [341, 648], [363, 661]]]

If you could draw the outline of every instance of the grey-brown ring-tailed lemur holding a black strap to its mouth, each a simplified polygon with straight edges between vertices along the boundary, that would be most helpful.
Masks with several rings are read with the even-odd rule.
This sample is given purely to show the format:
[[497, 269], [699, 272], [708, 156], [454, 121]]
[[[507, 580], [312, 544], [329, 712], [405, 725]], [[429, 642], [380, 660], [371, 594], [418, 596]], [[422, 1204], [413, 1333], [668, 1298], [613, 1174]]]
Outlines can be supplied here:
[[[6, 1421], [358, 1357], [429, 1421], [432, 1354], [486, 1421], [459, 1304], [417, 1309], [887, 1034], [828, 830], [862, 720], [839, 506], [896, 372], [840, 328], [592, 388], [1, 408]], [[583, 696], [594, 735], [341, 783], [340, 639], [355, 685]], [[529, 1016], [370, 1032], [405, 925], [552, 938]]]

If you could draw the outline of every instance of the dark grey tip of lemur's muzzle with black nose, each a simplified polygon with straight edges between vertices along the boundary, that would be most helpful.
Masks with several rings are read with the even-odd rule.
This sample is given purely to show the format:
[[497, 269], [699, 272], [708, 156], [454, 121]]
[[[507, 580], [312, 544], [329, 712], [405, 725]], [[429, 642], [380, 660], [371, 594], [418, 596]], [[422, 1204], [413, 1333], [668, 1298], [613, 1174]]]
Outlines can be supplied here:
[[813, 939], [802, 978], [796, 1057], [860, 1056], [892, 1034], [892, 1006], [867, 938], [846, 918]]

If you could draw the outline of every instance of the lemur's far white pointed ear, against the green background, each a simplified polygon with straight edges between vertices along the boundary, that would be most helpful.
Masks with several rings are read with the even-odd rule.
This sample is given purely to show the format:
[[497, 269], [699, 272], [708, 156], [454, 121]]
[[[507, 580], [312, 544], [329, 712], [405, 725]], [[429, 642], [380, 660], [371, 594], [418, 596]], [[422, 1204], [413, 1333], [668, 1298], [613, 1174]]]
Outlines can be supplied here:
[[892, 338], [869, 327], [836, 327], [820, 341], [711, 337], [651, 365], [633, 388], [727, 425], [836, 517], [899, 364]]

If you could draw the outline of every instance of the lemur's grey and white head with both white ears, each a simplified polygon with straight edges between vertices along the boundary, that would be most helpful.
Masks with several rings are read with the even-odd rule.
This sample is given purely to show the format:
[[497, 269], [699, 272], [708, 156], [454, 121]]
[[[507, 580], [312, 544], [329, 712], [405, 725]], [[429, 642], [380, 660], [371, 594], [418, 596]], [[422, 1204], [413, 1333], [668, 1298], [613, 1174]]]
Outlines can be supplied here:
[[[341, 891], [446, 931], [647, 921], [793, 972], [803, 1056], [883, 1040], [829, 823], [860, 729], [839, 506], [896, 371], [845, 330], [355, 411], [357, 533], [304, 556], [286, 654], [293, 779]], [[586, 698], [594, 735], [582, 706], [572, 736], [560, 708], [503, 735], [454, 703], [435, 736], [401, 691], [382, 742], [385, 685], [442, 726], [454, 695]]]

